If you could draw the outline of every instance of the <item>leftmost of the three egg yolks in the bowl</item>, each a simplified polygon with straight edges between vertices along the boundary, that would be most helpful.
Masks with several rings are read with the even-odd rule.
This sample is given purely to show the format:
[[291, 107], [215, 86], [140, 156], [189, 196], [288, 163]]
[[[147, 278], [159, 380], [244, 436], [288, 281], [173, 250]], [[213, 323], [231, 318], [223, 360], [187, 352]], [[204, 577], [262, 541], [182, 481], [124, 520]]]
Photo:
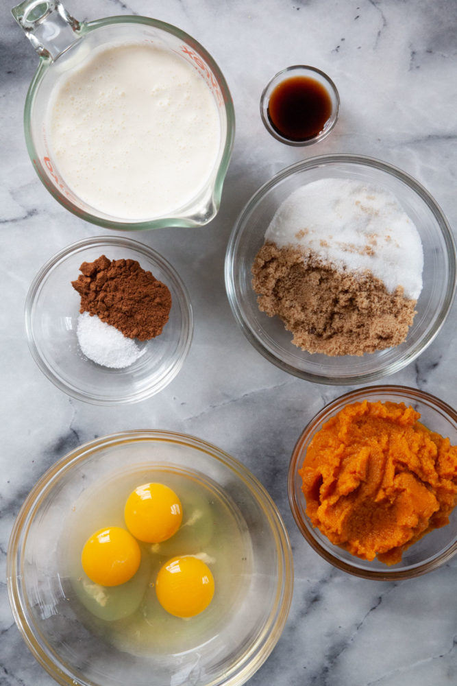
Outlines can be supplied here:
[[84, 571], [101, 586], [124, 584], [134, 576], [140, 561], [140, 546], [132, 534], [119, 526], [95, 532], [82, 549]]

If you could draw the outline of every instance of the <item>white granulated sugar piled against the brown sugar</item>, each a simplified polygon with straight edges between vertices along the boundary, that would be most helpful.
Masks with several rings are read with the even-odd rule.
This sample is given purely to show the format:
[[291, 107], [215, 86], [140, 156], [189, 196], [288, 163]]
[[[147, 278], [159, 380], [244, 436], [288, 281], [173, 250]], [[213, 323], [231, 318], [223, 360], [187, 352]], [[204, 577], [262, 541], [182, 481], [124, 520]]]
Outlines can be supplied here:
[[277, 209], [265, 240], [311, 250], [336, 269], [369, 270], [389, 292], [417, 300], [423, 250], [395, 196], [362, 182], [327, 178], [294, 191]]

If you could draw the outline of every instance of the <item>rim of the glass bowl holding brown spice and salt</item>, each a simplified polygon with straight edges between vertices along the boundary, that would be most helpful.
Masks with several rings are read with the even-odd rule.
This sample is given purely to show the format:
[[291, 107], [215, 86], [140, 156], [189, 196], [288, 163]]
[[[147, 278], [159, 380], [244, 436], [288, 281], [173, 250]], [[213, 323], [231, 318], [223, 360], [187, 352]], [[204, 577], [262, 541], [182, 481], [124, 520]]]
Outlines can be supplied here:
[[[173, 364], [166, 371], [162, 378], [153, 384], [149, 384], [147, 388], [144, 388], [141, 392], [131, 393], [125, 397], [114, 397], [106, 398], [101, 397], [97, 394], [88, 394], [87, 392], [82, 392], [76, 388], [70, 387], [65, 381], [60, 379], [60, 376], [55, 373], [53, 368], [49, 367], [40, 352], [38, 351], [38, 346], [36, 345], [34, 338], [34, 327], [32, 323], [32, 311], [34, 308], [35, 298], [40, 290], [40, 287], [47, 280], [47, 277], [51, 274], [56, 266], [62, 263], [67, 257], [72, 254], [76, 254], [84, 250], [85, 248], [95, 248], [97, 246], [116, 246], [121, 248], [126, 248], [134, 250], [135, 252], [140, 252], [145, 255], [147, 259], [152, 259], [160, 265], [160, 268], [166, 274], [166, 278], [169, 282], [173, 284], [176, 289], [177, 295], [179, 297], [181, 312], [182, 312], [182, 324], [181, 324], [181, 334], [180, 334], [180, 344], [177, 348], [177, 353]], [[182, 281], [180, 274], [177, 273], [175, 268], [166, 260], [160, 253], [158, 253], [153, 248], [146, 246], [143, 243], [133, 240], [132, 238], [126, 238], [123, 236], [93, 236], [90, 238], [84, 238], [82, 240], [76, 241], [66, 248], [62, 248], [55, 255], [49, 258], [44, 265], [40, 268], [38, 273], [34, 276], [32, 283], [29, 286], [27, 296], [25, 298], [24, 306], [24, 320], [25, 320], [25, 333], [27, 336], [27, 344], [29, 346], [29, 351], [32, 354], [38, 368], [43, 372], [45, 377], [51, 381], [54, 386], [70, 395], [77, 400], [84, 401], [86, 403], [92, 403], [92, 405], [126, 405], [129, 403], [136, 403], [143, 401], [152, 395], [160, 392], [167, 386], [180, 372], [184, 361], [190, 350], [190, 345], [193, 340], [193, 311], [192, 305], [190, 303], [190, 296], [184, 281]]]

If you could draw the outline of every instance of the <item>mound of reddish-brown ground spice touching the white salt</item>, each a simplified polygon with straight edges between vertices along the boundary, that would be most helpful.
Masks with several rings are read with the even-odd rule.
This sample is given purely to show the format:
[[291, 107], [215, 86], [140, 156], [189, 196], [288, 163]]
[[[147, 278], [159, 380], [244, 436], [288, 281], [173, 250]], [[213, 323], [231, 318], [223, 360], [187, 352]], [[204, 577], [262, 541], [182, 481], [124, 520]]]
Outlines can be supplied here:
[[169, 319], [171, 294], [164, 283], [133, 259], [101, 255], [79, 267], [73, 288], [81, 296], [79, 311], [97, 315], [127, 338], [155, 338]]

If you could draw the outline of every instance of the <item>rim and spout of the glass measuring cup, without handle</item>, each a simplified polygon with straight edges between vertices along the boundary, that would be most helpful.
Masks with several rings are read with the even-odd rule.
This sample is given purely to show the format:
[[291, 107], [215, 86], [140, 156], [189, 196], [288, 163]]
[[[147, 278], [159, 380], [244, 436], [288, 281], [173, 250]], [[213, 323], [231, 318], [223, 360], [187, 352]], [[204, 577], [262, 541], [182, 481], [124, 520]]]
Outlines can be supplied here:
[[[85, 34], [90, 33], [99, 28], [103, 28], [105, 26], [109, 26], [112, 24], [123, 23], [127, 25], [146, 24], [154, 28], [157, 28], [160, 31], [176, 36], [176, 38], [179, 38], [180, 40], [184, 40], [186, 43], [188, 43], [188, 45], [192, 45], [193, 47], [195, 47], [195, 49], [197, 49], [199, 54], [208, 63], [208, 66], [210, 67], [212, 73], [214, 73], [214, 77], [216, 78], [219, 87], [221, 88], [221, 92], [223, 94], [223, 107], [225, 109], [225, 115], [227, 117], [227, 134], [225, 137], [223, 154], [221, 156], [219, 166], [217, 167], [217, 171], [214, 169], [215, 174], [212, 188], [212, 205], [214, 207], [214, 213], [212, 213], [209, 219], [205, 219], [203, 222], [192, 220], [188, 217], [174, 217], [173, 215], [169, 215], [166, 217], [158, 217], [158, 219], [152, 220], [142, 220], [140, 222], [121, 222], [116, 221], [114, 219], [104, 219], [103, 217], [99, 217], [91, 212], [81, 210], [75, 203], [69, 200], [69, 198], [66, 198], [66, 196], [62, 195], [58, 188], [56, 188], [53, 184], [49, 182], [49, 178], [45, 172], [45, 169], [42, 167], [38, 155], [36, 154], [34, 140], [32, 137], [32, 105], [34, 103], [35, 91], [40, 85], [42, 78], [45, 76], [47, 69], [51, 66], [53, 62], [53, 60], [51, 60], [51, 58], [48, 58], [45, 54], [40, 56], [38, 67], [36, 69], [36, 72], [34, 73], [32, 81], [30, 82], [27, 95], [25, 97], [23, 128], [25, 134], [25, 144], [27, 146], [29, 158], [32, 161], [32, 165], [34, 166], [38, 178], [45, 186], [47, 191], [51, 193], [51, 196], [53, 196], [53, 198], [57, 200], [57, 202], [59, 202], [66, 210], [70, 211], [77, 217], [81, 217], [86, 222], [90, 222], [91, 224], [119, 231], [150, 230], [154, 228], [166, 228], [167, 226], [181, 228], [195, 228], [197, 226], [204, 226], [204, 224], [208, 224], [208, 222], [212, 221], [212, 219], [214, 219], [214, 217], [219, 212], [223, 182], [227, 174], [227, 169], [230, 164], [230, 158], [232, 156], [232, 150], [234, 147], [236, 128], [235, 108], [232, 95], [230, 93], [230, 88], [228, 87], [227, 81], [225, 80], [225, 77], [219, 67], [219, 64], [217, 64], [217, 62], [210, 55], [208, 50], [206, 50], [206, 48], [203, 47], [203, 45], [201, 45], [201, 43], [199, 43], [198, 40], [193, 38], [193, 36], [190, 36], [190, 34], [186, 33], [182, 29], [178, 28], [177, 26], [174, 26], [173, 24], [169, 24], [165, 21], [160, 21], [159, 19], [153, 19], [150, 16], [143, 16], [140, 14], [120, 14], [103, 17], [102, 19], [94, 19], [92, 21], [80, 21], [79, 29], [77, 29], [75, 34], [79, 34], [79, 38], [84, 38]], [[73, 45], [75, 45], [74, 42], [71, 43], [71, 45], [69, 45], [65, 50], [63, 50], [61, 54], [63, 54]]]

